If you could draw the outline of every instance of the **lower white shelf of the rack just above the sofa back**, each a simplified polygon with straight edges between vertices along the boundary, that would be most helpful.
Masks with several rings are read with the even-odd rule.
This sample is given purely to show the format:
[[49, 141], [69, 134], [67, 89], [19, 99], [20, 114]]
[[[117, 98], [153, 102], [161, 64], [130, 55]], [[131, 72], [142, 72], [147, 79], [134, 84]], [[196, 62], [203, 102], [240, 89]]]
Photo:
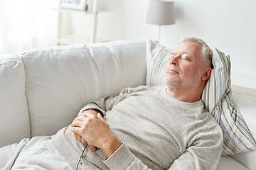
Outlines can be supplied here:
[[[90, 38], [81, 35], [65, 35], [62, 38], [58, 38], [55, 41], [62, 45], [92, 43]], [[107, 40], [97, 38], [96, 42], [107, 42]]]

